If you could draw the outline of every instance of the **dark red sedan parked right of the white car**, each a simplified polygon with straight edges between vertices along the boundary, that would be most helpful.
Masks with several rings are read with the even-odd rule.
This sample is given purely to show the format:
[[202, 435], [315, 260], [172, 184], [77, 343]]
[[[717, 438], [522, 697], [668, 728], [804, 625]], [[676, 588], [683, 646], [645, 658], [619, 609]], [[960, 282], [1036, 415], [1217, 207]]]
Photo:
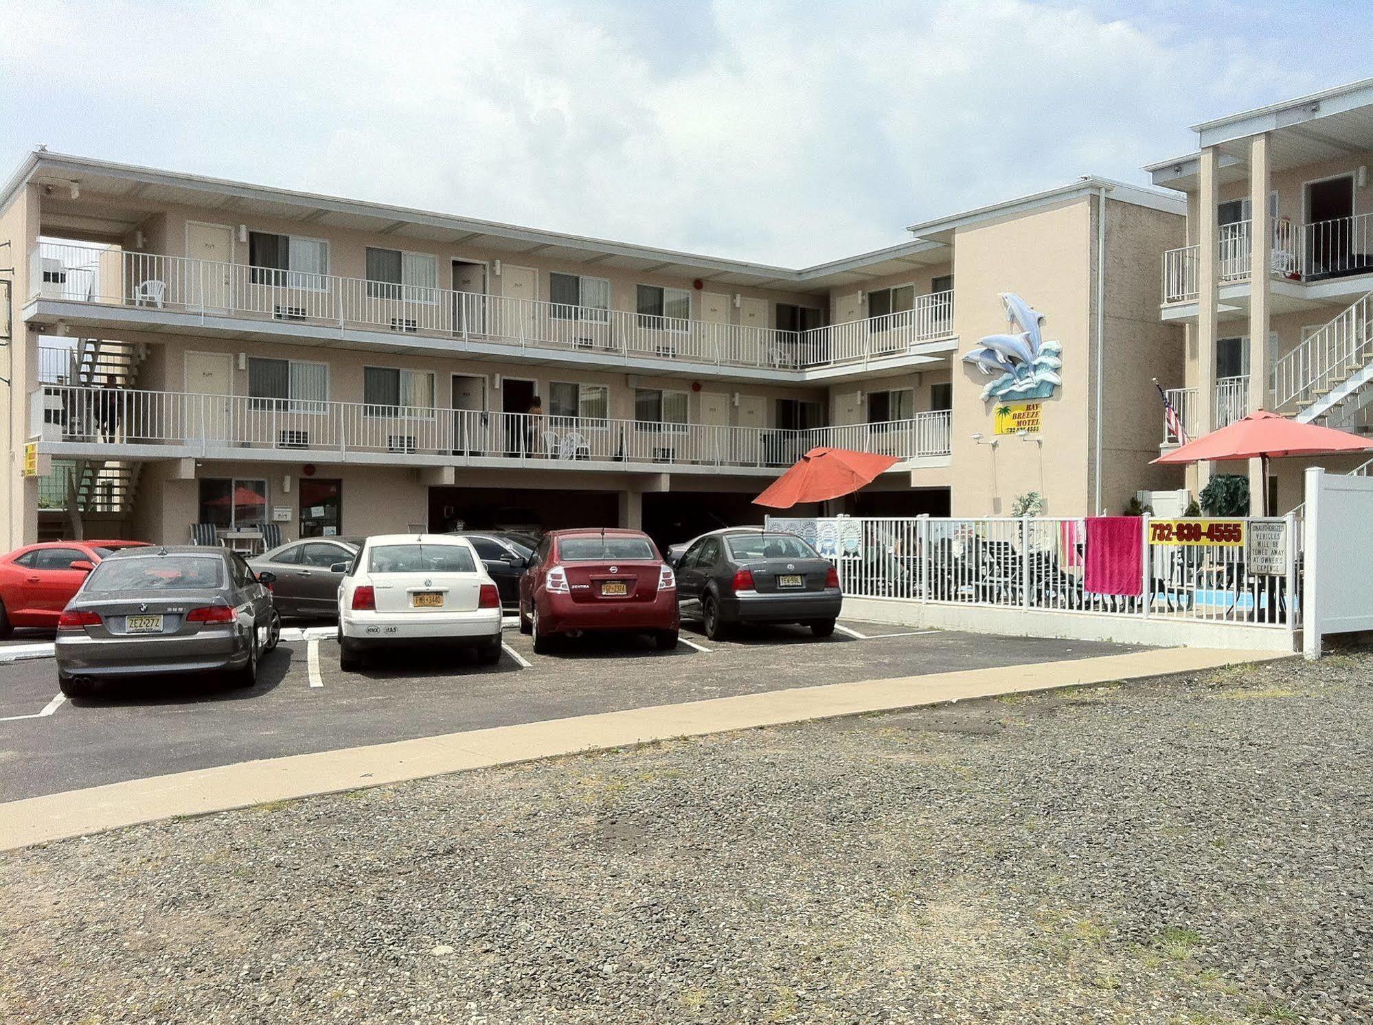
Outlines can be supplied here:
[[519, 627], [544, 653], [585, 630], [652, 634], [677, 646], [677, 576], [637, 530], [557, 530], [544, 535], [519, 582]]

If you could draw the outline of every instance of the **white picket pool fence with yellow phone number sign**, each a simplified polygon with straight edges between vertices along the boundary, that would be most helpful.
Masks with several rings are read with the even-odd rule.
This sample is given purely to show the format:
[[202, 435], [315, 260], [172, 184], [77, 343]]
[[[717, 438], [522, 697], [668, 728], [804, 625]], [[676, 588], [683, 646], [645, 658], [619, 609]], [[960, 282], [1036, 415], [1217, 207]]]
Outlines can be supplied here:
[[[768, 524], [817, 543], [851, 597], [1273, 627], [1299, 622], [1289, 600], [1300, 543], [1293, 517], [1141, 519], [1140, 547], [1112, 558], [1138, 567], [1131, 586], [1114, 587], [1129, 594], [1087, 589], [1082, 519], [769, 516]], [[1269, 537], [1251, 564], [1249, 553], [1259, 552], [1255, 527]]]

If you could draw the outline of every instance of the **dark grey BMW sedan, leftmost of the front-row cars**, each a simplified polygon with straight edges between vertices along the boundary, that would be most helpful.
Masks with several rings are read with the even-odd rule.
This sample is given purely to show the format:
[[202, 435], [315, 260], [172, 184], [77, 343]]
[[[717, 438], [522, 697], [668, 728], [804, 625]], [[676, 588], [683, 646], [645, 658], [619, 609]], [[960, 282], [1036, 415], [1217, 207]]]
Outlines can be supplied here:
[[236, 552], [135, 547], [103, 560], [58, 620], [62, 693], [96, 683], [177, 672], [228, 672], [257, 682], [258, 659], [276, 648], [281, 619], [270, 572], [254, 575]]

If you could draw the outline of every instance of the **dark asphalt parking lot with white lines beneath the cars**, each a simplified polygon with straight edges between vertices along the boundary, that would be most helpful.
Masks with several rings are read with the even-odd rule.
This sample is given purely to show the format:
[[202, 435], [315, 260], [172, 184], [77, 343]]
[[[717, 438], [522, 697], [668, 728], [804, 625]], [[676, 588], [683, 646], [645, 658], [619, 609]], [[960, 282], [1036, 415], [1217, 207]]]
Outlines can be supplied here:
[[[63, 700], [41, 634], [0, 646], [0, 801], [251, 759], [490, 726], [858, 679], [1081, 659], [1130, 650], [1085, 641], [987, 637], [842, 622], [822, 641], [800, 627], [673, 652], [648, 638], [589, 635], [553, 655], [505, 628], [496, 665], [470, 653], [398, 653], [342, 672], [331, 626], [291, 624], [250, 690], [210, 678]], [[48, 635], [51, 638], [51, 634]]]

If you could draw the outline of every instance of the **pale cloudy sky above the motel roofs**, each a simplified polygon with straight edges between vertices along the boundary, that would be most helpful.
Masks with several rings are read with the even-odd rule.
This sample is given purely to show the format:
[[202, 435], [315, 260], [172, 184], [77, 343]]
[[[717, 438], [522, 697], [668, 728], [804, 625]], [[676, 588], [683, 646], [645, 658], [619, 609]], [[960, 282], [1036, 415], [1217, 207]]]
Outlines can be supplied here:
[[7, 7], [0, 162], [49, 150], [788, 266], [1373, 74], [1373, 4]]

